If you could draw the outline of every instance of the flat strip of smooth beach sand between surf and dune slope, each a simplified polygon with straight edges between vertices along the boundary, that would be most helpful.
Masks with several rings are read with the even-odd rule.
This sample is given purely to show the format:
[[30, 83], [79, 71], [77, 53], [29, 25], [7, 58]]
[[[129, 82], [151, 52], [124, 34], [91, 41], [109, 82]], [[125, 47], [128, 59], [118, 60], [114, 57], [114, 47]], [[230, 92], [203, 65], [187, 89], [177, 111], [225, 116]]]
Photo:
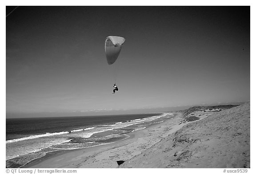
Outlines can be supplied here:
[[[172, 121], [173, 118], [176, 118], [174, 121], [176, 124], [173, 124], [173, 121]], [[168, 123], [168, 122], [171, 122], [169, 124], [172, 124], [172, 128], [169, 128], [169, 129], [172, 131], [177, 131], [178, 129], [182, 128], [185, 125], [185, 124], [179, 124], [179, 121], [182, 120], [183, 118], [184, 117], [183, 117], [182, 113], [175, 112], [175, 113], [173, 113], [173, 116], [171, 119], [170, 118], [166, 119], [163, 122], [156, 123], [154, 125], [149, 126], [148, 128], [129, 132], [127, 134], [129, 137], [126, 139], [121, 139], [117, 142], [108, 143], [108, 144], [104, 144], [104, 145], [98, 145], [98, 146], [94, 146], [94, 147], [86, 147], [86, 148], [82, 148], [82, 149], [49, 152], [49, 153], [46, 153], [46, 155], [44, 155], [43, 157], [34, 159], [31, 162], [28, 162], [27, 164], [25, 164], [24, 166], [21, 166], [20, 168], [80, 168], [83, 166], [82, 165], [83, 158], [88, 160], [88, 157], [89, 157], [89, 159], [92, 159], [95, 156], [95, 154], [104, 153], [104, 152], [111, 151], [112, 149], [116, 149], [116, 148], [124, 148], [128, 144], [135, 143], [135, 142], [137, 142], [138, 139], [143, 139], [144, 137], [147, 137], [147, 136], [153, 137], [154, 143], [153, 142], [151, 143], [151, 145], [153, 145], [156, 143], [156, 140], [157, 140], [156, 137], [158, 136], [158, 134], [152, 134], [151, 131], [155, 131], [159, 127], [168, 127], [166, 125], [166, 123]], [[165, 132], [166, 135], [167, 135], [167, 133], [168, 132]], [[161, 138], [163, 138], [163, 137], [159, 137], [158, 141], [160, 141]], [[137, 143], [135, 146], [140, 147], [144, 143], [145, 142], [140, 142], [140, 143]], [[123, 149], [123, 151], [124, 151], [124, 149]], [[112, 154], [113, 152], [109, 152], [109, 153]], [[135, 154], [137, 154], [137, 152], [135, 152]], [[81, 159], [77, 159], [76, 156], [81, 156]], [[132, 157], [132, 155], [128, 155], [128, 156]], [[109, 156], [108, 157], [105, 156], [105, 157], [109, 158]], [[67, 162], [54, 163], [55, 159], [60, 159], [60, 158], [61, 159], [73, 158], [73, 159], [76, 159], [76, 160], [74, 160], [76, 162], [71, 163], [71, 164], [69, 164], [69, 162], [68, 163]], [[122, 159], [120, 159], [120, 157], [119, 157], [119, 158], [116, 158], [116, 161], [117, 160], [122, 160]], [[64, 160], [64, 161], [66, 161], [66, 160]], [[95, 162], [93, 162], [93, 163], [95, 163]], [[118, 167], [118, 165], [115, 161], [112, 163], [112, 165], [107, 165], [107, 166], [102, 166], [102, 167], [111, 168], [113, 166], [115, 166], [114, 168]], [[84, 166], [84, 167], [98, 168], [100, 166], [88, 165], [88, 166]]]

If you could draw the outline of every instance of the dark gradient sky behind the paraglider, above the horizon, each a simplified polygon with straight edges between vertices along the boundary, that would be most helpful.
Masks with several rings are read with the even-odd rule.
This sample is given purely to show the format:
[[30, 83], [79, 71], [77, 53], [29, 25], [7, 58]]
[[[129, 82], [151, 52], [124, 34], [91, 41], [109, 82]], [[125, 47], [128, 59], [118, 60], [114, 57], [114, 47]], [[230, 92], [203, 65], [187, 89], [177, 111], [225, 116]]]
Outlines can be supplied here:
[[[126, 39], [113, 66], [109, 35]], [[6, 17], [7, 117], [249, 100], [248, 6], [20, 6]]]

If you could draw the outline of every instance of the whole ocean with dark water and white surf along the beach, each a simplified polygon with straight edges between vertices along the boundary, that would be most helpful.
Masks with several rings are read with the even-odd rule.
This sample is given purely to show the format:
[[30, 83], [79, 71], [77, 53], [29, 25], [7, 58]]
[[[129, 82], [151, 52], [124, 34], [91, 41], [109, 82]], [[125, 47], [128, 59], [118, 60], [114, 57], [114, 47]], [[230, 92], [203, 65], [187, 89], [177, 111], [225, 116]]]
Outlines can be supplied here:
[[172, 114], [6, 119], [6, 160], [22, 166], [48, 152], [113, 143], [166, 116]]

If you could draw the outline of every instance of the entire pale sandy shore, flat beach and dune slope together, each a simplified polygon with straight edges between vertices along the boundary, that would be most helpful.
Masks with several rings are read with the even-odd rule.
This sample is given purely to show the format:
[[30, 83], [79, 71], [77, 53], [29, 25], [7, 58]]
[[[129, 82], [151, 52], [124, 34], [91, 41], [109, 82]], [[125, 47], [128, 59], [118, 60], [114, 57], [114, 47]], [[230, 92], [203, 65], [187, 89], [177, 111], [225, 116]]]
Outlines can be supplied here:
[[[197, 118], [197, 119], [189, 119]], [[194, 120], [194, 121], [192, 121]], [[120, 166], [117, 161], [124, 161]], [[48, 154], [24, 168], [249, 168], [250, 104], [175, 112], [106, 145]]]

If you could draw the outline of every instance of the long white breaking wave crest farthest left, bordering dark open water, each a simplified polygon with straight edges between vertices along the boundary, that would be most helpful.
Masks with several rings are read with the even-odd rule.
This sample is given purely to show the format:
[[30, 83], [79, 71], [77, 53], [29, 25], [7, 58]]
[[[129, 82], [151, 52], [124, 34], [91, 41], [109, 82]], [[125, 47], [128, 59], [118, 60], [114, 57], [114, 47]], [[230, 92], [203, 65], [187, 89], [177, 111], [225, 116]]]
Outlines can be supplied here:
[[[86, 128], [86, 129], [72, 130], [71, 132], [84, 131], [84, 130], [89, 130], [89, 129], [93, 129], [93, 128], [95, 128], [95, 127]], [[23, 138], [19, 138], [19, 139], [10, 139], [10, 140], [5, 141], [5, 143], [13, 143], [13, 142], [23, 141], [23, 140], [27, 140], [27, 139], [36, 139], [36, 138], [41, 138], [41, 137], [46, 137], [46, 136], [62, 135], [62, 134], [67, 134], [67, 133], [69, 133], [69, 131], [61, 131], [61, 132], [54, 132], [54, 133], [45, 133], [45, 134], [40, 134], [40, 135], [30, 135], [30, 136], [28, 136], [28, 137], [23, 137]]]

